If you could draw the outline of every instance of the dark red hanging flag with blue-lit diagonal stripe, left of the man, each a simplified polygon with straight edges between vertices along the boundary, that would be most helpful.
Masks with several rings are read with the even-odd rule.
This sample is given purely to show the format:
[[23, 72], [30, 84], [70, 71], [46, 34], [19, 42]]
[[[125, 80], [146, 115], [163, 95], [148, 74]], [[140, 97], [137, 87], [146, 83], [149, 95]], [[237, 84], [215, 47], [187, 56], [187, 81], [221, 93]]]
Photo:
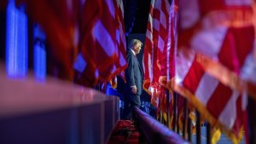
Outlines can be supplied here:
[[[84, 78], [79, 82], [95, 85], [98, 81], [109, 81], [109, 76], [117, 70], [118, 59], [113, 1], [85, 1], [81, 20], [80, 53], [81, 59], [74, 63], [74, 69]], [[78, 57], [79, 58], [79, 57]], [[78, 60], [84, 60], [80, 65]]]

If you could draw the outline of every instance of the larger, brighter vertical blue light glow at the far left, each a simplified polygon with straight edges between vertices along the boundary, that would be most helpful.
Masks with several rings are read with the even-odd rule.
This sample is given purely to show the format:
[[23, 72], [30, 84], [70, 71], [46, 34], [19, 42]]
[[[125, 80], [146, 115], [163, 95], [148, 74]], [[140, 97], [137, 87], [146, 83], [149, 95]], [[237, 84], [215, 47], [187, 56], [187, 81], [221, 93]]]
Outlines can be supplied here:
[[6, 71], [9, 77], [25, 77], [28, 65], [27, 18], [10, 0], [6, 15]]

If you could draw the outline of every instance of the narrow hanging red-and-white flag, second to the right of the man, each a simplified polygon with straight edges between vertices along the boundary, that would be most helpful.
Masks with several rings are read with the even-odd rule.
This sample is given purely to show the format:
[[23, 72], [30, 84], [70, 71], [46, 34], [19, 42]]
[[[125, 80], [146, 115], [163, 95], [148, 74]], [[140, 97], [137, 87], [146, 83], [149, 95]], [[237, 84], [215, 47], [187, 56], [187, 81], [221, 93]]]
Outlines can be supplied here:
[[[179, 1], [172, 1], [169, 20], [168, 20], [168, 35], [166, 40], [166, 45], [163, 49], [163, 52], [159, 56], [160, 59], [160, 77], [159, 83], [164, 88], [169, 90], [169, 98], [167, 95], [162, 97], [161, 107], [164, 107], [162, 110], [166, 113], [166, 109], [169, 109], [170, 116], [172, 116], [172, 103], [173, 103], [173, 84], [175, 77], [175, 57], [177, 53], [177, 9]], [[160, 54], [160, 53], [158, 53]], [[165, 91], [164, 91], [165, 92]], [[167, 101], [169, 100], [169, 101]], [[169, 106], [169, 107], [167, 107]], [[172, 119], [172, 118], [171, 118]], [[172, 120], [171, 120], [172, 122]]]

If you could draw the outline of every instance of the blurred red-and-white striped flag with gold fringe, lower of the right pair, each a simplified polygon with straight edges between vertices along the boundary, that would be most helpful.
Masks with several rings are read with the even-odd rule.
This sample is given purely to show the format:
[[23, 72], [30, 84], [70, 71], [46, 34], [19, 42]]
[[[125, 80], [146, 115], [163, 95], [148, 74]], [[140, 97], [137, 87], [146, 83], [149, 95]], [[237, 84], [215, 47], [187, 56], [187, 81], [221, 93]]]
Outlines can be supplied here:
[[246, 123], [247, 95], [230, 89], [205, 72], [199, 57], [191, 51], [178, 52], [175, 90], [201, 112], [213, 129], [222, 130], [238, 143]]

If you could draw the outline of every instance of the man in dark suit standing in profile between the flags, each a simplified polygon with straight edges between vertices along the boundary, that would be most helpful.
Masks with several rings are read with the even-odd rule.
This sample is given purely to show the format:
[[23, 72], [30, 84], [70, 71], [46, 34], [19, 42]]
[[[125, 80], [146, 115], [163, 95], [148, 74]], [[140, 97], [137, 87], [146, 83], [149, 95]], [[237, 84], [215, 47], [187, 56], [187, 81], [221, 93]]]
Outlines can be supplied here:
[[142, 49], [143, 43], [137, 39], [132, 39], [127, 49], [126, 60], [128, 67], [125, 69], [126, 90], [124, 95], [124, 119], [132, 119], [133, 107], [141, 107], [140, 95], [143, 90], [143, 69], [141, 68], [137, 54]]

